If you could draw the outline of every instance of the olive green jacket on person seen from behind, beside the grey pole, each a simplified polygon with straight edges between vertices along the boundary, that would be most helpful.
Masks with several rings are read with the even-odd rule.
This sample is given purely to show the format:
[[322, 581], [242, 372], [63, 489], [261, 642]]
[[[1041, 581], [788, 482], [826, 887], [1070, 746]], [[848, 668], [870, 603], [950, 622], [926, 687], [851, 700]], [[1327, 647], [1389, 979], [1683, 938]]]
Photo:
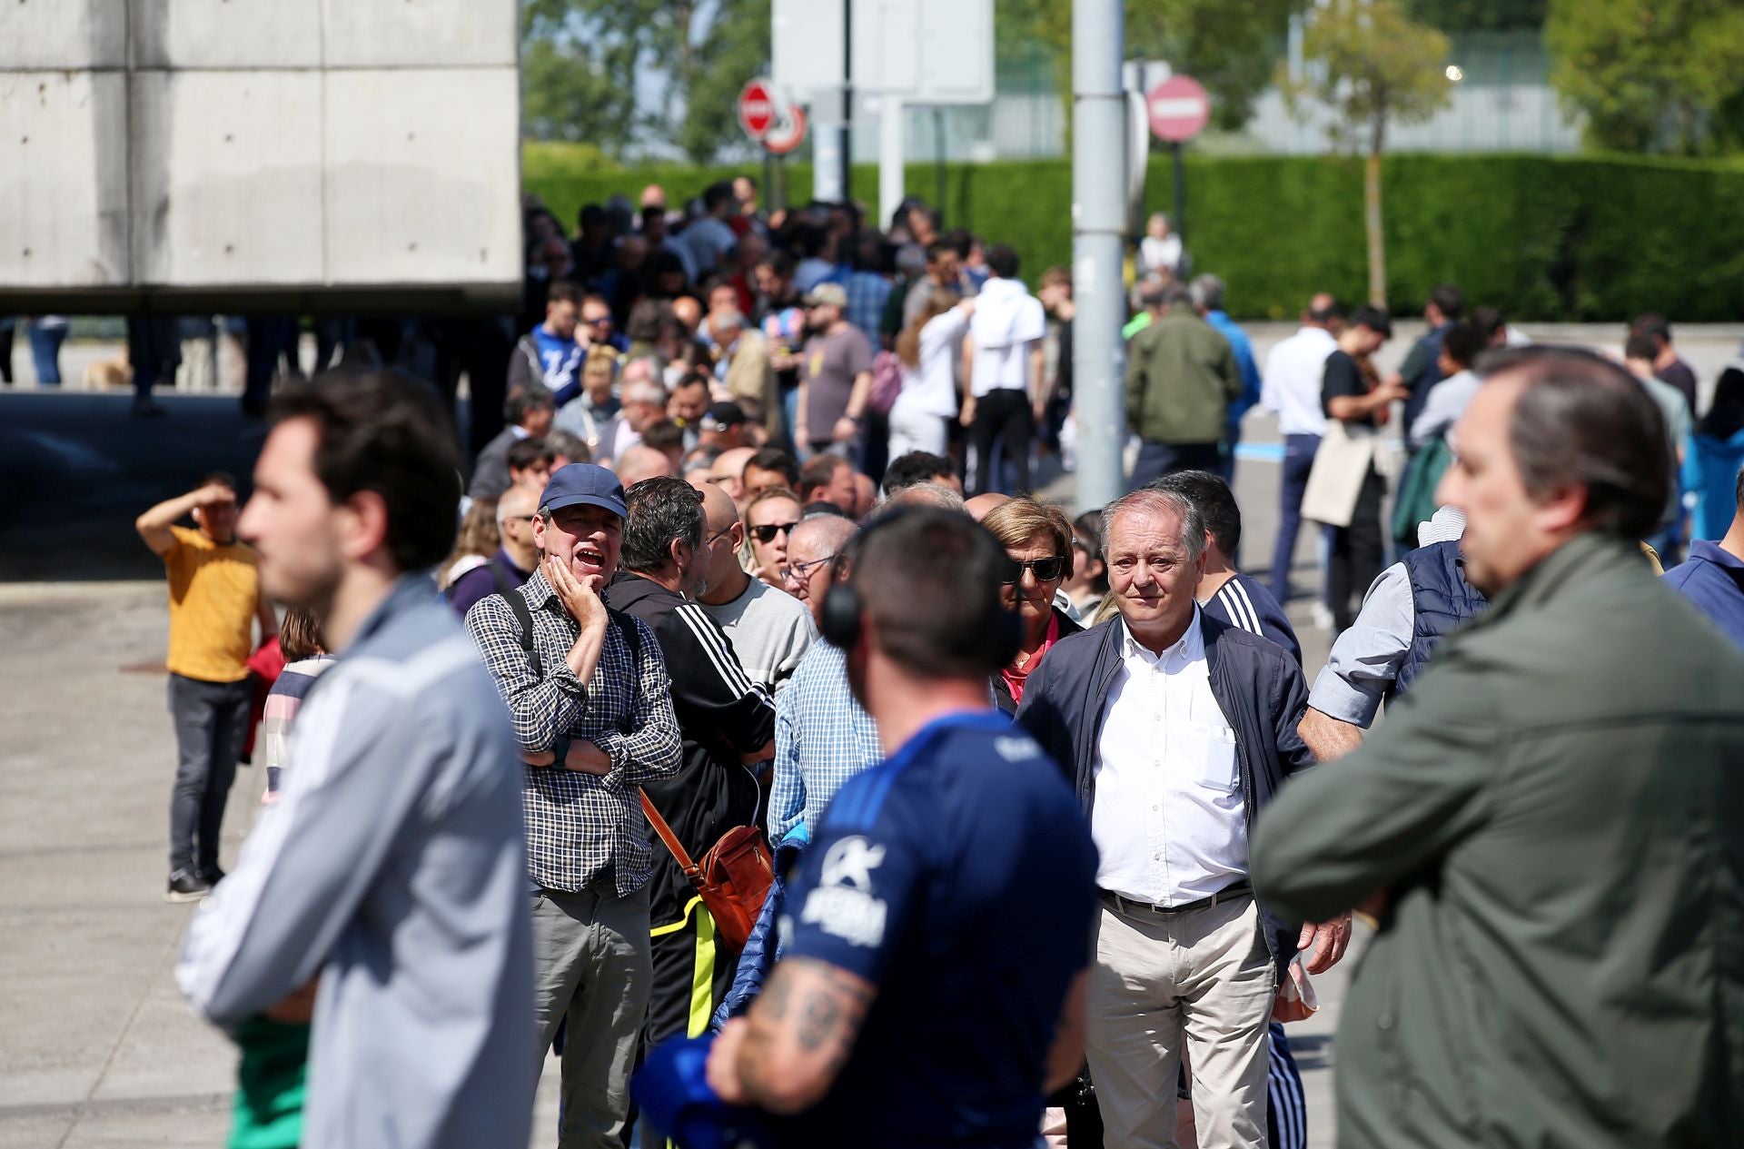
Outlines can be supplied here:
[[1217, 443], [1242, 398], [1230, 340], [1184, 303], [1127, 343], [1127, 425], [1151, 443]]

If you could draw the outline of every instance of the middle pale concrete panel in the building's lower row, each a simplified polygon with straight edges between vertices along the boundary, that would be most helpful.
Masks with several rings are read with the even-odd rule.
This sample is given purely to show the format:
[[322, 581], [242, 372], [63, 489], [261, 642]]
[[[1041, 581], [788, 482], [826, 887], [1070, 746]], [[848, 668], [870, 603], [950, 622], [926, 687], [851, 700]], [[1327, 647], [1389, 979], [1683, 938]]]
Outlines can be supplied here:
[[319, 71], [140, 71], [133, 131], [138, 282], [323, 281]]

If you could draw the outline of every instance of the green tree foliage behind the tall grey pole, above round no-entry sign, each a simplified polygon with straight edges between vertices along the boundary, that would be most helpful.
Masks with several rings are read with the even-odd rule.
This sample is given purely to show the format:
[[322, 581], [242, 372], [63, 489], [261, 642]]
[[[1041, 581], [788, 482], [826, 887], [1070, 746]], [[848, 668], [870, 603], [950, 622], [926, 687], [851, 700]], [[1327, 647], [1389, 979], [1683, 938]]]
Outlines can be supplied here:
[[[935, 0], [945, 2], [945, 0]], [[1127, 0], [1127, 58], [1167, 59], [1205, 85], [1212, 122], [1240, 131], [1271, 82], [1303, 0]], [[1060, 94], [1071, 103], [1073, 5], [1066, 0], [998, 0], [996, 35], [1010, 54], [1039, 40], [1053, 59]]]

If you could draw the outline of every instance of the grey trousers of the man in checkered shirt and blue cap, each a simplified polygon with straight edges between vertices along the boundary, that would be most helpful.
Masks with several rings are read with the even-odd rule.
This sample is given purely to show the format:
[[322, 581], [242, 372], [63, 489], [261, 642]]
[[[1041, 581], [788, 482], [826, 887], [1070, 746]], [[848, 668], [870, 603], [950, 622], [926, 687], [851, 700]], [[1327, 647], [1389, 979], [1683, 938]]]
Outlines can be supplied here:
[[567, 1018], [558, 1149], [621, 1149], [654, 982], [649, 887], [534, 893], [534, 1016], [544, 1062]]

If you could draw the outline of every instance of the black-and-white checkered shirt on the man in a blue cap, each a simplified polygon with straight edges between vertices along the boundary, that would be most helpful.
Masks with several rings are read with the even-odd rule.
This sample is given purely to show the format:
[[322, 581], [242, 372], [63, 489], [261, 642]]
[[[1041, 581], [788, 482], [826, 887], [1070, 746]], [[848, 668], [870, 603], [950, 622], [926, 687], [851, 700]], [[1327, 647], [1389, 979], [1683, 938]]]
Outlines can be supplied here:
[[[603, 750], [612, 769], [603, 776], [562, 765], [523, 765], [521, 806], [527, 812], [527, 872], [546, 889], [586, 889], [607, 872], [619, 894], [649, 880], [654, 854], [640, 786], [678, 771], [678, 720], [659, 642], [647, 624], [614, 614], [605, 649], [586, 687], [569, 668], [569, 649], [581, 633], [556, 591], [539, 570], [518, 591], [534, 619], [541, 673], [521, 647], [521, 628], [497, 595], [466, 614], [485, 668], [514, 720], [514, 739], [528, 753], [551, 750], [558, 738], [586, 739]], [[619, 622], [640, 633], [640, 657], [631, 656]]]

